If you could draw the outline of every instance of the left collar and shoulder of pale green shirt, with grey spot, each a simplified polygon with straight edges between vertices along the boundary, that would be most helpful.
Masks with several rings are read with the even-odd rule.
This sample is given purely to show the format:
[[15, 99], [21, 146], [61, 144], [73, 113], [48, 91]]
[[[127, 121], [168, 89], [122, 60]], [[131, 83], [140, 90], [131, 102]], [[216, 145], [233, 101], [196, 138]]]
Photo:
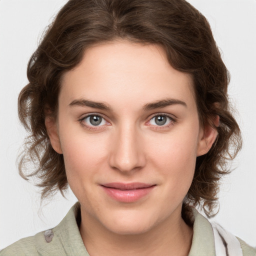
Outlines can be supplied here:
[[0, 251], [0, 256], [87, 255], [76, 223], [80, 205], [76, 203], [52, 229], [22, 238]]

